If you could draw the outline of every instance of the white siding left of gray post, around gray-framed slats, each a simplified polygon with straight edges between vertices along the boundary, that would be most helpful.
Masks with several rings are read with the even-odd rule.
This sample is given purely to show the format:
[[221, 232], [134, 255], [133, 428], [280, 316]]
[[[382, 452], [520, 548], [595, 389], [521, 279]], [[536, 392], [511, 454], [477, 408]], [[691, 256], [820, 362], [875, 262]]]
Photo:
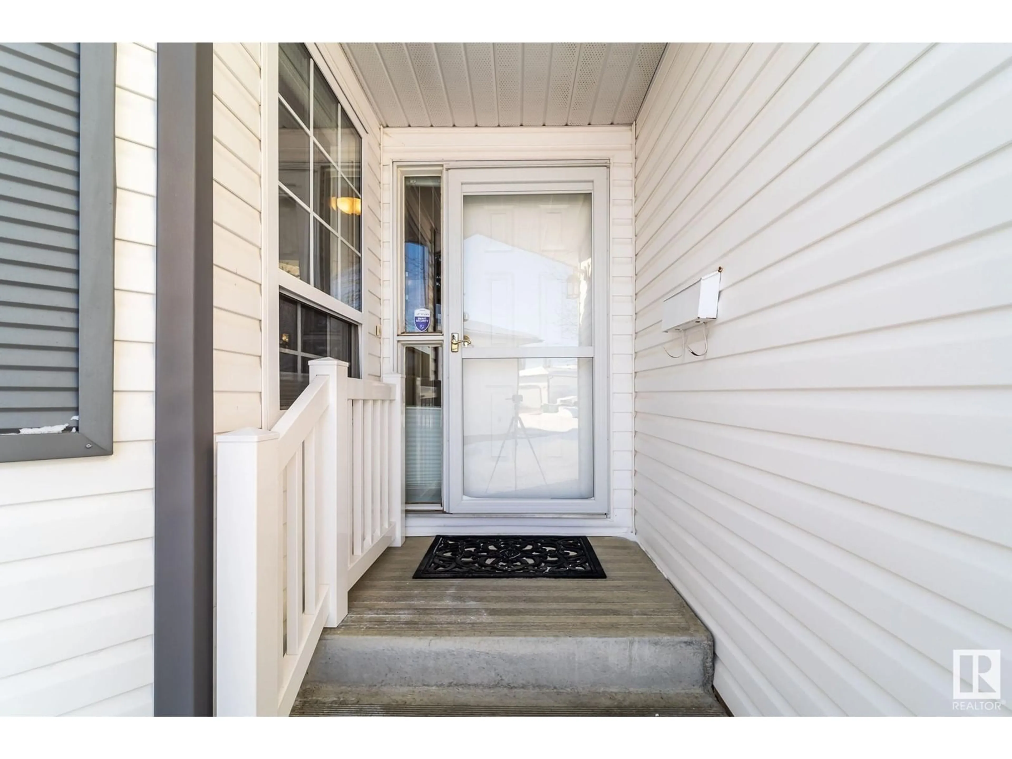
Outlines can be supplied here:
[[156, 51], [117, 46], [114, 452], [0, 463], [0, 713], [151, 714]]

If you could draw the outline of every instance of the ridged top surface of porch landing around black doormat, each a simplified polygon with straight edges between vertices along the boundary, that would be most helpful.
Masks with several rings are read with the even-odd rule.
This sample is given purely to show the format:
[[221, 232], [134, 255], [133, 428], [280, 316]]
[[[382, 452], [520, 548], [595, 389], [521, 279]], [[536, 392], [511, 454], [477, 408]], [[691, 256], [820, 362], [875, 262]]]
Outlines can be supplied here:
[[414, 580], [431, 537], [388, 550], [352, 588], [325, 637], [700, 637], [705, 627], [643, 550], [590, 538], [604, 580]]

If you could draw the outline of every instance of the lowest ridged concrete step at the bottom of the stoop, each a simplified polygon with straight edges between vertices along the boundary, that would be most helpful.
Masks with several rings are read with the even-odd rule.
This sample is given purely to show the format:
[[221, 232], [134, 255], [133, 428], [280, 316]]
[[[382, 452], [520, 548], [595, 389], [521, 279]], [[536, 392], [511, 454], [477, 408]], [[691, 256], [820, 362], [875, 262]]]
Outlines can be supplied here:
[[292, 716], [726, 716], [711, 691], [307, 685]]

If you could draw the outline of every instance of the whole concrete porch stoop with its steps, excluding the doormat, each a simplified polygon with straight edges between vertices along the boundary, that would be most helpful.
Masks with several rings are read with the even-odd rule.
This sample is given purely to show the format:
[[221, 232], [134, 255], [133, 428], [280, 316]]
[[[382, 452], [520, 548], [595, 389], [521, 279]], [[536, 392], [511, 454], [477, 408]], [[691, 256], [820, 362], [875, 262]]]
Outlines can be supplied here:
[[297, 712], [711, 708], [709, 631], [639, 545], [591, 542], [607, 579], [414, 580], [430, 539], [386, 552], [324, 630]]

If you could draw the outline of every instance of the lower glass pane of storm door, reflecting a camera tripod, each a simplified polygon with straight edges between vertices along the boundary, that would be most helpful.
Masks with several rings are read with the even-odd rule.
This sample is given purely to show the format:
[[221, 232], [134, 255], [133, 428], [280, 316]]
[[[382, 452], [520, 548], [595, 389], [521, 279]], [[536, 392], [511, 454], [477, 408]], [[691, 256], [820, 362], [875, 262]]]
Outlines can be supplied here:
[[592, 498], [593, 360], [463, 363], [463, 495]]

